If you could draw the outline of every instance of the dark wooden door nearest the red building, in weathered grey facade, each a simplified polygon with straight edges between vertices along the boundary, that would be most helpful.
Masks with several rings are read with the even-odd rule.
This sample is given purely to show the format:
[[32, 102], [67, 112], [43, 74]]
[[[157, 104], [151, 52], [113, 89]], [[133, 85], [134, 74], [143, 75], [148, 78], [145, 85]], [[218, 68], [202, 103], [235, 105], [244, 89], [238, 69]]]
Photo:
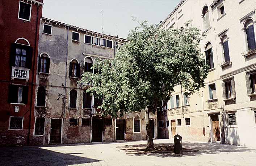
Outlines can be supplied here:
[[61, 119], [51, 119], [50, 143], [61, 143]]

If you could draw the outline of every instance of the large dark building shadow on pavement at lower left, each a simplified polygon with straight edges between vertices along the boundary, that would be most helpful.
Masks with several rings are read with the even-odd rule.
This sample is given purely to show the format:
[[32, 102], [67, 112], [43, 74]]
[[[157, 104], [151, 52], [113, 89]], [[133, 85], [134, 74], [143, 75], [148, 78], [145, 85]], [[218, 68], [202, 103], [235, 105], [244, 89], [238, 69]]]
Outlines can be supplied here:
[[75, 165], [99, 162], [101, 160], [75, 156], [83, 153], [60, 153], [44, 147], [3, 147], [0, 148], [0, 165]]

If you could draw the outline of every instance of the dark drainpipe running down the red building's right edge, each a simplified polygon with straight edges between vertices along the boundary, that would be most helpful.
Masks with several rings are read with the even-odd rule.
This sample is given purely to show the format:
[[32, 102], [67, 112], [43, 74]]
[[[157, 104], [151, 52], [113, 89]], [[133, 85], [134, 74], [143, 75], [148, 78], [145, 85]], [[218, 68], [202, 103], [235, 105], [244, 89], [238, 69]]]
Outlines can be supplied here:
[[37, 31], [38, 31], [38, 12], [39, 12], [39, 6], [37, 6], [37, 22], [36, 22], [36, 27], [35, 27], [35, 46], [34, 46], [34, 60], [33, 60], [33, 65], [32, 65], [32, 71], [33, 71], [33, 75], [32, 75], [32, 85], [31, 85], [31, 98], [30, 98], [30, 110], [29, 110], [29, 131], [28, 131], [28, 140], [27, 140], [27, 145], [29, 146], [29, 139], [30, 139], [30, 129], [31, 129], [31, 118], [32, 118], [32, 102], [33, 102], [33, 88], [34, 88], [34, 84], [35, 84], [35, 81], [34, 81], [34, 75], [35, 72], [34, 71], [34, 68], [35, 68], [35, 58], [37, 57], [36, 56], [36, 53], [37, 53]]

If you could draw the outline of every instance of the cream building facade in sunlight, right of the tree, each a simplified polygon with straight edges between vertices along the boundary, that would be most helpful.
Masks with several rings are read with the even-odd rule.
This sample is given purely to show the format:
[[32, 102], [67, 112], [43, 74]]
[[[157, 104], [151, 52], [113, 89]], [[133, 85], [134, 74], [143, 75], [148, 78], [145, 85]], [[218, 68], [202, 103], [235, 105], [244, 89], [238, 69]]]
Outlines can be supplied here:
[[160, 23], [180, 29], [193, 20], [205, 35], [200, 49], [210, 69], [193, 95], [175, 87], [158, 112], [159, 138], [256, 146], [255, 9], [250, 0], [182, 0]]

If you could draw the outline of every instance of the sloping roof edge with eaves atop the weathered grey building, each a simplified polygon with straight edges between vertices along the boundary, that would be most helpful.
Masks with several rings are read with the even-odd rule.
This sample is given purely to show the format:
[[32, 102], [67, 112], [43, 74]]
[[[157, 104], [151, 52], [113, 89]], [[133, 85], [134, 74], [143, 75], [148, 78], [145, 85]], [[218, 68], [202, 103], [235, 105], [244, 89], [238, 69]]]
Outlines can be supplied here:
[[111, 38], [114, 38], [114, 39], [117, 39], [117, 40], [129, 41], [129, 40], [124, 39], [124, 38], [121, 38], [121, 37], [106, 35], [106, 34], [104, 34], [104, 33], [95, 32], [95, 31], [91, 31], [91, 30], [87, 30], [87, 29], [80, 28], [80, 27], [77, 27], [77, 26], [74, 26], [74, 25], [71, 25], [71, 24], [66, 24], [66, 23], [62, 23], [62, 22], [59, 22], [59, 21], [55, 21], [55, 20], [50, 19], [50, 18], [42, 17], [42, 20], [54, 22], [55, 24], [63, 25], [63, 26], [65, 26], [65, 27], [75, 28], [75, 29], [80, 30], [80, 31], [95, 33], [96, 35], [101, 35], [102, 37], [111, 37]]

